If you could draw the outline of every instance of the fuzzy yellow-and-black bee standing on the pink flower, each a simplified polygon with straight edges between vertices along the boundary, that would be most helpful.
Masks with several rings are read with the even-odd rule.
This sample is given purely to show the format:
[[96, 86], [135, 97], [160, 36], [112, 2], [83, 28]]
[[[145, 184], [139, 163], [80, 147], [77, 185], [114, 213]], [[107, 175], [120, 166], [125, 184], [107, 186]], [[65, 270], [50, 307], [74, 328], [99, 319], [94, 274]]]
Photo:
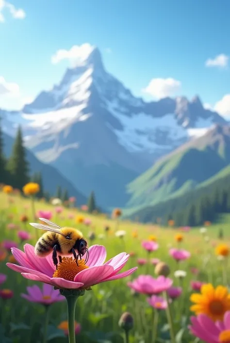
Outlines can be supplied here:
[[37, 256], [45, 257], [52, 252], [52, 260], [56, 269], [58, 266], [57, 253], [59, 253], [58, 258], [60, 263], [62, 262], [62, 255], [69, 254], [73, 254], [77, 265], [78, 259], [82, 259], [82, 256], [85, 253], [85, 263], [88, 261], [89, 251], [87, 248], [87, 242], [83, 238], [81, 231], [69, 227], [62, 228], [61, 226], [45, 218], [39, 219], [48, 225], [30, 223], [30, 225], [36, 229], [47, 231], [39, 238], [35, 245], [35, 253]]

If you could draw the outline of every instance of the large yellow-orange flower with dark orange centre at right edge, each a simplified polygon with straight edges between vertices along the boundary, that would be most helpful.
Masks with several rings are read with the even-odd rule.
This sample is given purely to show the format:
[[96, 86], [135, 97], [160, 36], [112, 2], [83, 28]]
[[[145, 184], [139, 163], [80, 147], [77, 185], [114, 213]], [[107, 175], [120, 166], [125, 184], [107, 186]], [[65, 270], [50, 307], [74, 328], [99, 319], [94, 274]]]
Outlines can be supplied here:
[[206, 314], [213, 321], [222, 321], [226, 311], [230, 310], [230, 294], [227, 287], [207, 284], [201, 287], [199, 293], [191, 295], [190, 300], [195, 305], [190, 310], [198, 314]]

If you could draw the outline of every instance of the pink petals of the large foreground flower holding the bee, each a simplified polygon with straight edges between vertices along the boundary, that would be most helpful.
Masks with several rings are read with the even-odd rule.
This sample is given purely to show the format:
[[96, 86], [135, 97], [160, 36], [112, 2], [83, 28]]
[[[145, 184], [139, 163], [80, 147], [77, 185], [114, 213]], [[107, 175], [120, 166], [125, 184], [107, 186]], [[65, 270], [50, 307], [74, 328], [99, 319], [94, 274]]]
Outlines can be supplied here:
[[[118, 273], [127, 263], [129, 254], [119, 253], [104, 263], [106, 259], [105, 247], [93, 245], [89, 248], [88, 268], [77, 272], [74, 276], [74, 281], [70, 281], [63, 277], [53, 277], [56, 270], [52, 262], [52, 253], [44, 258], [39, 258], [35, 255], [34, 247], [30, 244], [24, 245], [24, 251], [25, 253], [13, 248], [12, 253], [19, 266], [13, 263], [7, 263], [6, 265], [10, 269], [20, 272], [26, 279], [41, 281], [59, 289], [87, 289], [101, 282], [121, 279], [132, 274], [137, 269], [135, 267]], [[85, 259], [84, 256], [83, 259]], [[69, 263], [71, 263], [70, 269], [72, 271], [74, 262]], [[66, 264], [65, 268], [68, 271], [68, 264]]]

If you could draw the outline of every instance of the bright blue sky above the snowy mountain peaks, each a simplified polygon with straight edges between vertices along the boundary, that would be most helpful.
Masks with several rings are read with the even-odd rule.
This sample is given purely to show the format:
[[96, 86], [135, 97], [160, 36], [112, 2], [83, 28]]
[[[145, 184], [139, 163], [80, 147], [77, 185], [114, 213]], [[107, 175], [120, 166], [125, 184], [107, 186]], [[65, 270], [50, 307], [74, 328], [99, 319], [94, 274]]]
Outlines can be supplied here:
[[[52, 64], [51, 56], [59, 49], [90, 43], [99, 47], [106, 69], [135, 95], [151, 100], [164, 92], [188, 98], [199, 94], [204, 103], [214, 107], [218, 102], [216, 108], [222, 114], [227, 108], [230, 115], [228, 0], [1, 3], [0, 107], [17, 108], [51, 88], [68, 66], [68, 61]], [[25, 15], [17, 14], [18, 9]], [[220, 54], [224, 59], [214, 63], [219, 66], [205, 66]], [[163, 80], [149, 85], [158, 78]], [[168, 78], [173, 79], [169, 86]], [[13, 95], [2, 91], [7, 87]], [[143, 92], [147, 87], [151, 94]], [[159, 87], [161, 94], [156, 92]]]

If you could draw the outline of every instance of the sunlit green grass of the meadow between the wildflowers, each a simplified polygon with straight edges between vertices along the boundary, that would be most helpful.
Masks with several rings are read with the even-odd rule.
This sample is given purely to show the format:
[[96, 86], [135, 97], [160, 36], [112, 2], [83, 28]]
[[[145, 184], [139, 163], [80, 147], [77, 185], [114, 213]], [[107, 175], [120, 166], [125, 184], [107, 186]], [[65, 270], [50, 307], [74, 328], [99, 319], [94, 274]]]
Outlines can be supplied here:
[[[9, 201], [9, 199], [11, 199]], [[127, 282], [132, 281], [138, 275], [155, 275], [155, 266], [151, 259], [158, 258], [168, 264], [173, 279], [173, 286], [182, 287], [181, 296], [170, 304], [173, 319], [173, 330], [176, 343], [197, 343], [198, 339], [188, 329], [190, 323], [189, 298], [195, 291], [191, 289], [191, 281], [199, 280], [204, 283], [227, 286], [226, 277], [230, 278], [226, 270], [225, 261], [217, 259], [214, 247], [219, 243], [229, 244], [229, 216], [221, 217], [217, 225], [207, 227], [207, 233], [202, 235], [200, 228], [192, 228], [188, 232], [182, 232], [179, 228], [165, 228], [157, 225], [142, 225], [138, 222], [115, 220], [105, 215], [91, 215], [76, 208], [66, 209], [55, 214], [55, 206], [42, 201], [35, 202], [35, 211], [52, 211], [50, 220], [60, 226], [72, 226], [79, 228], [89, 245], [104, 245], [107, 251], [106, 260], [121, 252], [131, 253], [124, 270], [138, 266], [138, 270], [124, 279], [101, 283], [93, 286], [92, 290], [86, 291], [77, 302], [75, 320], [81, 325], [80, 332], [76, 335], [79, 343], [122, 343], [127, 341], [124, 331], [118, 322], [123, 312], [130, 312], [134, 319], [133, 328], [130, 331], [129, 343], [164, 343], [172, 342], [170, 339], [170, 327], [165, 310], [159, 310], [158, 323], [154, 322], [154, 310], [147, 302], [147, 295], [137, 294], [131, 291]], [[22, 222], [21, 216], [28, 216], [28, 222]], [[77, 223], [79, 216], [87, 218], [88, 224]], [[70, 218], [71, 217], [71, 218]], [[43, 305], [30, 302], [21, 297], [21, 293], [27, 293], [26, 287], [42, 283], [33, 282], [23, 278], [20, 273], [10, 270], [6, 262], [12, 261], [10, 251], [5, 251], [4, 241], [14, 241], [18, 248], [23, 250], [25, 243], [35, 245], [37, 235], [44, 232], [36, 230], [29, 225], [33, 222], [31, 200], [20, 196], [0, 193], [0, 273], [6, 274], [7, 279], [0, 285], [0, 290], [13, 291], [10, 299], [0, 299], [0, 342], [1, 343], [67, 343], [68, 338], [64, 330], [58, 328], [59, 324], [67, 320], [66, 302], [57, 302], [49, 309], [49, 326], [44, 341], [44, 325], [46, 309]], [[81, 221], [81, 220], [80, 220]], [[91, 223], [90, 223], [91, 221]], [[10, 228], [9, 224], [15, 224], [16, 228]], [[109, 231], [105, 231], [105, 226]], [[223, 230], [223, 238], [218, 239], [219, 229]], [[124, 237], [117, 237], [115, 230], [125, 231]], [[31, 238], [21, 241], [18, 231], [27, 231]], [[91, 233], [94, 239], [89, 239]], [[181, 233], [182, 241], [177, 242], [175, 235]], [[148, 240], [154, 235], [159, 244], [158, 250], [148, 253], [141, 245], [143, 240]], [[153, 238], [153, 237], [151, 237]], [[191, 257], [185, 261], [176, 262], [169, 255], [170, 248], [181, 248], [189, 251]], [[6, 252], [6, 254], [5, 254]], [[139, 265], [140, 258], [147, 259], [147, 263]], [[194, 273], [194, 268], [197, 273]], [[182, 270], [185, 277], [175, 277], [174, 272]], [[123, 270], [122, 270], [123, 271]], [[154, 324], [155, 323], [155, 324]], [[157, 331], [156, 335], [155, 332]], [[155, 337], [156, 336], [156, 337]], [[201, 341], [200, 341], [201, 342]]]

